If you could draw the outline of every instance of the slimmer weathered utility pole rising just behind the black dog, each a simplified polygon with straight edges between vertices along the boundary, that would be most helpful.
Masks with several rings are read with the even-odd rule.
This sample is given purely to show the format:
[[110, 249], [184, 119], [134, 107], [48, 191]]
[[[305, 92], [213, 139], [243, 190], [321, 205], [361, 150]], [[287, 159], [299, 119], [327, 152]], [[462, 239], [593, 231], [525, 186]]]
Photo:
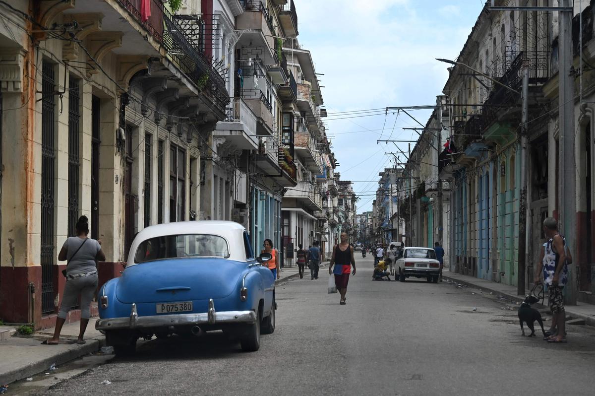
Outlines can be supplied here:
[[522, 62], [522, 115], [521, 115], [521, 191], [519, 192], [519, 257], [516, 294], [525, 295], [525, 274], [527, 273], [527, 179], [528, 179], [528, 127], [529, 113], [529, 64]]

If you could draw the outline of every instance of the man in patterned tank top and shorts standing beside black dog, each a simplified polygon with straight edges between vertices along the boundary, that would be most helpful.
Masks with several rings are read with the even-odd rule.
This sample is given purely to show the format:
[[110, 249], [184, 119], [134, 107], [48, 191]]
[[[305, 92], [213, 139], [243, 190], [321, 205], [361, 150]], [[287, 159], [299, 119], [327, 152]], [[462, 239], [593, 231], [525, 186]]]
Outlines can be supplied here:
[[[540, 260], [537, 263], [535, 283], [541, 283], [540, 276], [543, 272], [543, 282], [547, 285], [547, 297], [552, 311], [552, 328], [547, 342], [566, 342], [566, 312], [564, 310], [564, 285], [568, 282], [568, 264], [572, 263], [572, 255], [566, 247], [566, 239], [558, 233], [558, 221], [552, 217], [543, 220], [543, 232], [549, 238], [541, 250]], [[547, 335], [547, 333], [546, 333]]]

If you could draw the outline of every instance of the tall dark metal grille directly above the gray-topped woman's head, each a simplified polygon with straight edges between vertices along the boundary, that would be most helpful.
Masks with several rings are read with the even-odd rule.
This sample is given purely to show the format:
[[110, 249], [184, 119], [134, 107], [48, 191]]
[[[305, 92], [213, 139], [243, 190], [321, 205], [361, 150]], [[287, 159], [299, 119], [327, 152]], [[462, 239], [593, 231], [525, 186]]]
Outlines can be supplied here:
[[75, 236], [79, 220], [79, 80], [70, 77], [68, 87], [68, 236]]

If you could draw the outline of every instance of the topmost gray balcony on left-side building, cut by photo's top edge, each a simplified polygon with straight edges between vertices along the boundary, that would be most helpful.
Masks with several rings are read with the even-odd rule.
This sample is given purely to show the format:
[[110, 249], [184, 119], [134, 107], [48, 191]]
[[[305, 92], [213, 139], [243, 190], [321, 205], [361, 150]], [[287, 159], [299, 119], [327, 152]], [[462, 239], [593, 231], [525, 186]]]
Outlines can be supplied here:
[[[242, 47], [258, 47], [264, 48], [264, 59], [267, 66], [273, 66], [278, 63], [277, 53], [275, 48], [277, 36], [275, 27], [273, 26], [273, 15], [262, 1], [246, 0], [243, 2], [244, 12], [236, 18], [236, 29], [245, 30], [239, 40], [239, 45]], [[252, 43], [252, 45], [250, 45]]]

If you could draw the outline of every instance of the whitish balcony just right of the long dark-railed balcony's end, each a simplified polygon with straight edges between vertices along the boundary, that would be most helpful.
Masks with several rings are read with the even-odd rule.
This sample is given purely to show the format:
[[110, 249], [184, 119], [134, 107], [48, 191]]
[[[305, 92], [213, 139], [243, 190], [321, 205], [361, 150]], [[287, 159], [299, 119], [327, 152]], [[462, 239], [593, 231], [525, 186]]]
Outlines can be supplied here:
[[256, 124], [256, 115], [250, 110], [248, 104], [242, 99], [234, 99], [227, 119], [217, 123], [213, 137], [225, 138], [241, 150], [254, 150], [259, 147]]

